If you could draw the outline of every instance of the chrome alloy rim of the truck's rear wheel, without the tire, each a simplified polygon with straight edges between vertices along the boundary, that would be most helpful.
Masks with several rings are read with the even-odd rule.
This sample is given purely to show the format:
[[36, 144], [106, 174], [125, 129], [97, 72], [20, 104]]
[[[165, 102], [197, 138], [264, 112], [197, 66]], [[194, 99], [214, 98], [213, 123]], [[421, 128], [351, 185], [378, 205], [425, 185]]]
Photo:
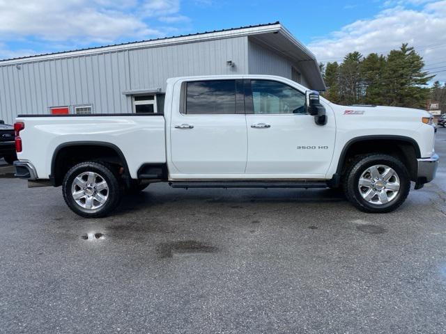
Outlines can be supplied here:
[[109, 186], [104, 177], [94, 172], [77, 175], [71, 186], [72, 198], [79, 207], [89, 210], [99, 209], [109, 197]]

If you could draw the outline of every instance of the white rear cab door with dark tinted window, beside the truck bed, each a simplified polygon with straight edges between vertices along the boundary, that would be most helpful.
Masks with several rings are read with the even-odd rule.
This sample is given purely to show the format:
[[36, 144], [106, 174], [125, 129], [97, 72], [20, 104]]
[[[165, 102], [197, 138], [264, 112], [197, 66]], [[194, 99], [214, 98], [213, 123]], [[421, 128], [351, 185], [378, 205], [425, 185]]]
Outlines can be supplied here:
[[171, 175], [224, 178], [245, 173], [243, 80], [183, 82], [181, 95], [180, 110], [171, 116]]

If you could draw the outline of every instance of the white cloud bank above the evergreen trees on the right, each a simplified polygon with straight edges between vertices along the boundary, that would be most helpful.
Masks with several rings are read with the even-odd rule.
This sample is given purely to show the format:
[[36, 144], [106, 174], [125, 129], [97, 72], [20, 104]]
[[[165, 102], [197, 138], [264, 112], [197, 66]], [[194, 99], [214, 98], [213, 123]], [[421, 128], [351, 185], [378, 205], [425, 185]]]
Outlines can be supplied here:
[[[388, 1], [387, 1], [388, 2]], [[383, 9], [371, 19], [360, 19], [309, 43], [319, 61], [341, 61], [351, 51], [367, 55], [371, 52], [387, 54], [403, 42], [424, 57], [426, 69], [438, 72], [446, 81], [446, 1], [393, 1], [394, 7]], [[407, 3], [422, 5], [408, 8]], [[442, 67], [443, 66], [443, 67]], [[437, 68], [438, 67], [438, 68]]]

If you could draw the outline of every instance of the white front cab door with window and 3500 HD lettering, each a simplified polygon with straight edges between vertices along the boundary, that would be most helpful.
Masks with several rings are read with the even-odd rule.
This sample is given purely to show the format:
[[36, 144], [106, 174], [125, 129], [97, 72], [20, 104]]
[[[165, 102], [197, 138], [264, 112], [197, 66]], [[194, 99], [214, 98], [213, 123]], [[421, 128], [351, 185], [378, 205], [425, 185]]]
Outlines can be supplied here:
[[280, 81], [258, 79], [250, 80], [247, 91], [246, 174], [324, 178], [334, 150], [330, 106], [325, 106], [328, 123], [321, 126], [306, 113], [303, 91]]

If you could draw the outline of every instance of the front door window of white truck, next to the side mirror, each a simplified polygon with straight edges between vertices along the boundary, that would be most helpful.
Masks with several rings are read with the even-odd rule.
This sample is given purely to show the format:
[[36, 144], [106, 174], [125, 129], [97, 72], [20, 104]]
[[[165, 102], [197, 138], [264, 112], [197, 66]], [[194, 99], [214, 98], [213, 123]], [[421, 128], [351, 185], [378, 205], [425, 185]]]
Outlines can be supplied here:
[[254, 114], [306, 113], [305, 94], [277, 81], [251, 80]]

